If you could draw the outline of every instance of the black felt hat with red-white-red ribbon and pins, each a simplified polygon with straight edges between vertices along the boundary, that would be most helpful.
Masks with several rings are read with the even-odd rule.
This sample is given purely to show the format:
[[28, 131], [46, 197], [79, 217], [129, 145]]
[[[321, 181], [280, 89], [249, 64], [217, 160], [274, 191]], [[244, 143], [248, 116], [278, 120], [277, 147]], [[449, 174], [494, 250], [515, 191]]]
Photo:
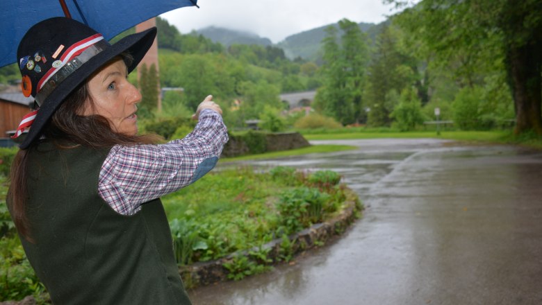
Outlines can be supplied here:
[[156, 28], [126, 36], [109, 44], [97, 31], [79, 21], [55, 17], [30, 28], [17, 49], [25, 96], [40, 106], [26, 138], [28, 148], [64, 99], [106, 62], [127, 52], [133, 57], [128, 72], [135, 69], [156, 37]]

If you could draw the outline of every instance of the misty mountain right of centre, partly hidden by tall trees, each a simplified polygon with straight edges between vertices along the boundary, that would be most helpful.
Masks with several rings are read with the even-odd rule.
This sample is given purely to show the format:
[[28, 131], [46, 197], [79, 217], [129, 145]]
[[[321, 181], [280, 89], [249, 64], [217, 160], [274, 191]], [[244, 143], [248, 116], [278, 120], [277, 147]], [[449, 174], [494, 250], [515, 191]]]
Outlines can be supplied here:
[[[277, 46], [283, 49], [286, 56], [290, 59], [301, 57], [306, 60], [318, 60], [321, 56], [319, 54], [321, 42], [326, 36], [325, 29], [328, 26], [335, 26], [338, 28], [338, 23], [328, 24], [327, 26], [320, 26], [320, 28], [313, 28], [312, 30], [306, 30], [302, 33], [290, 35], [279, 42]], [[374, 26], [375, 24], [359, 23], [359, 28], [363, 32], [368, 32]]]

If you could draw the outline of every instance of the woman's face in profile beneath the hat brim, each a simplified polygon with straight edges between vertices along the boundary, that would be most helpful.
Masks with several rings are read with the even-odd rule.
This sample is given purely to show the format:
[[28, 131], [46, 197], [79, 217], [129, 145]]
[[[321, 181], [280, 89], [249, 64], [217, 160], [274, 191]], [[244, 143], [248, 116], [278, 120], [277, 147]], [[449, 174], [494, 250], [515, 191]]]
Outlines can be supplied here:
[[[88, 89], [94, 107], [87, 107], [85, 115], [105, 116], [116, 132], [127, 135], [138, 133], [136, 103], [141, 94], [128, 80], [126, 64], [122, 59], [102, 67], [88, 80]], [[88, 103], [90, 105], [90, 103]]]

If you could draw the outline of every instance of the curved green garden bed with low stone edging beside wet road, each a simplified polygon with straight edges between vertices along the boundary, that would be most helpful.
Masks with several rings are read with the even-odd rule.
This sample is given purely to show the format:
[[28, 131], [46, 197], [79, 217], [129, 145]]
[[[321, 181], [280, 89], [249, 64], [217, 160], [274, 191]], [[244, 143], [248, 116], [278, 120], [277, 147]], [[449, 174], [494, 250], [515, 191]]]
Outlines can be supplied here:
[[339, 182], [332, 171], [236, 168], [166, 196], [186, 286], [265, 272], [343, 232], [362, 207]]

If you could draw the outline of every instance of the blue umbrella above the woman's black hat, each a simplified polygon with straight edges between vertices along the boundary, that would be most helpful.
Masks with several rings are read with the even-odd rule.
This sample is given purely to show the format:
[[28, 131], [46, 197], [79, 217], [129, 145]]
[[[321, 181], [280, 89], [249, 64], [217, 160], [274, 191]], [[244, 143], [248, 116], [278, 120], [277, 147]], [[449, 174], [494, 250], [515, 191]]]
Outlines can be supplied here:
[[163, 12], [197, 6], [197, 0], [0, 0], [0, 67], [17, 61], [26, 30], [51, 17], [70, 17], [110, 40]]

